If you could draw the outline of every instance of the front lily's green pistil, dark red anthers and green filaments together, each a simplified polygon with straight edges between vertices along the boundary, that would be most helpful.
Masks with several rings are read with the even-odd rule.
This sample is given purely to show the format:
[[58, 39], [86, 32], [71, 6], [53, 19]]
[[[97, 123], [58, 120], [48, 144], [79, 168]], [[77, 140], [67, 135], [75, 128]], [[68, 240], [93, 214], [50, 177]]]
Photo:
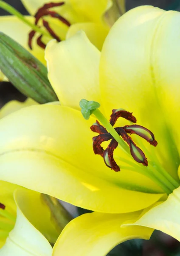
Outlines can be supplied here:
[[[113, 169], [115, 172], [120, 171], [120, 166], [114, 159], [114, 150], [118, 147], [119, 144], [127, 156], [129, 156], [130, 153], [130, 155], [137, 162], [135, 163], [134, 161], [125, 159], [123, 157], [115, 156], [117, 160], [127, 163], [127, 166], [121, 166], [121, 169], [129, 169], [149, 177], [151, 180], [157, 183], [168, 195], [172, 193], [174, 189], [180, 186], [180, 183], [175, 180], [168, 172], [166, 172], [163, 166], [159, 163], [156, 154], [151, 154], [151, 152], [149, 152], [147, 148], [142, 144], [141, 148], [143, 147], [143, 151], [146, 152], [146, 155], [148, 155], [150, 158], [148, 165], [148, 160], [144, 152], [128, 135], [136, 134], [138, 137], [143, 138], [149, 144], [156, 147], [158, 143], [151, 131], [141, 125], [136, 124], [115, 128], [113, 127], [119, 117], [127, 119], [132, 123], [136, 123], [136, 118], [132, 115], [132, 113], [122, 109], [116, 109], [113, 110], [113, 113], [110, 116], [110, 121], [108, 121], [101, 113], [101, 111], [99, 111], [98, 108], [100, 107], [100, 104], [98, 102], [82, 99], [80, 101], [80, 107], [82, 108], [81, 112], [84, 116], [84, 119], [89, 119], [91, 114], [94, 114], [98, 119], [96, 123], [90, 127], [93, 132], [99, 134], [98, 136], [93, 137], [93, 150], [95, 154], [99, 154], [101, 157], [103, 157], [106, 166]], [[107, 142], [109, 140], [110, 143], [104, 150], [104, 148], [101, 146], [101, 143], [105, 141]], [[143, 166], [139, 165], [138, 163], [142, 163]]]

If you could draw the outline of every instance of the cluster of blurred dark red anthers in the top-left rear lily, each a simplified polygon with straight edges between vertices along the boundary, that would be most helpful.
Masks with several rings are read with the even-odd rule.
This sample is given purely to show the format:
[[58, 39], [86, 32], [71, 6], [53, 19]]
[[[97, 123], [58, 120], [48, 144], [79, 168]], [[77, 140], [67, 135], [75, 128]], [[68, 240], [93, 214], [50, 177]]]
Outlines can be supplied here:
[[[50, 9], [53, 7], [58, 7], [58, 6], [62, 6], [64, 5], [64, 2], [58, 2], [58, 3], [46, 3], [45, 5], [43, 5], [41, 8], [39, 8], [36, 12], [36, 14], [34, 15], [35, 17], [35, 25], [38, 25], [39, 20], [42, 18], [42, 26], [49, 32], [50, 36], [52, 38], [55, 38], [58, 42], [61, 41], [61, 39], [59, 38], [58, 35], [56, 35], [56, 33], [53, 31], [53, 29], [51, 28], [51, 26], [49, 25], [48, 21], [44, 20], [43, 17], [45, 16], [50, 16], [53, 18], [58, 19], [60, 22], [64, 23], [67, 26], [70, 26], [70, 22], [68, 20], [66, 20], [64, 17], [62, 17], [61, 15], [59, 15], [57, 12], [51, 11]], [[30, 49], [32, 49], [32, 40], [34, 38], [34, 35], [36, 34], [35, 30], [32, 30], [29, 33], [28, 36], [28, 46]], [[37, 38], [37, 44], [39, 45], [39, 47], [41, 47], [42, 49], [45, 49], [46, 44], [42, 41], [42, 35], [40, 35]]]

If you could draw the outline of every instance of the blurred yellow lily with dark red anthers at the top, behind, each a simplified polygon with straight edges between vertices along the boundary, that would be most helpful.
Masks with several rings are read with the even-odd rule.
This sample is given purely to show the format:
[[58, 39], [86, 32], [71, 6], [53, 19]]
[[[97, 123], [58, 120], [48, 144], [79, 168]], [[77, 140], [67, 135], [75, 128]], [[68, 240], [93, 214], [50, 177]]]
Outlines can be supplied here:
[[[28, 49], [42, 63], [45, 44], [52, 38], [62, 41], [70, 38], [80, 29], [84, 30], [90, 41], [101, 49], [110, 29], [103, 19], [104, 13], [113, 8], [112, 0], [65, 0], [48, 3], [47, 0], [22, 0], [31, 15], [26, 16], [30, 24], [39, 26], [35, 31], [16, 16], [0, 17], [0, 31]], [[124, 0], [118, 0], [119, 16], [125, 12]], [[42, 34], [39, 34], [42, 32]], [[0, 74], [0, 79], [4, 79]]]

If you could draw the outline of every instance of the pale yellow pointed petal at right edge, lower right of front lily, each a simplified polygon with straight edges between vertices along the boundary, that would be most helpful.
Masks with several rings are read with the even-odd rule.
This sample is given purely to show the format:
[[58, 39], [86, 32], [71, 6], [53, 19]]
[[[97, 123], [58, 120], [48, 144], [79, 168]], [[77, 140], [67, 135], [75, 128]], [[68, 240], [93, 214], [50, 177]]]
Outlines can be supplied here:
[[168, 199], [146, 212], [135, 225], [160, 230], [180, 241], [180, 188], [175, 189]]

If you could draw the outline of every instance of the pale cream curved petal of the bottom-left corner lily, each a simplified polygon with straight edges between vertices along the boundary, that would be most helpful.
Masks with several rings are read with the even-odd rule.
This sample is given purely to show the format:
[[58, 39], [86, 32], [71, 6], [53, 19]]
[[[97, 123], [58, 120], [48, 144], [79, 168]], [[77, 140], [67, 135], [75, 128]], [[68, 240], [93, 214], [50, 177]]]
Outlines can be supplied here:
[[[26, 198], [24, 193], [25, 189], [15, 192], [17, 220], [14, 229], [9, 233], [6, 244], [0, 249], [0, 256], [51, 256], [52, 247], [48, 240], [45, 239], [24, 215], [24, 209], [30, 199], [28, 197]], [[42, 215], [40, 217], [43, 218]]]

